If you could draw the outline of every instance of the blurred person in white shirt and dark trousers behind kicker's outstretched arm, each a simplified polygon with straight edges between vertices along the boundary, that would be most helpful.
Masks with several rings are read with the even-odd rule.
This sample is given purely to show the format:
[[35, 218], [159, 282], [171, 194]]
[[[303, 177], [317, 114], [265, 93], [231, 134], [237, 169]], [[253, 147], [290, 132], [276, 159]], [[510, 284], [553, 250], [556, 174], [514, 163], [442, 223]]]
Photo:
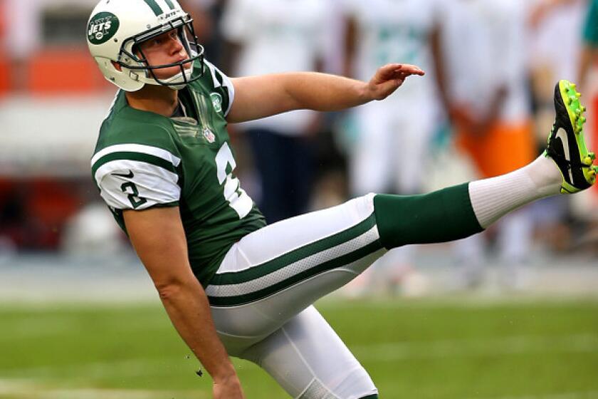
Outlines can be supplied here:
[[[221, 31], [232, 76], [322, 70], [328, 1], [229, 0]], [[308, 210], [315, 175], [312, 136], [321, 115], [301, 110], [239, 126], [251, 144], [260, 192], [252, 195], [268, 223]], [[252, 191], [252, 190], [250, 190]]]

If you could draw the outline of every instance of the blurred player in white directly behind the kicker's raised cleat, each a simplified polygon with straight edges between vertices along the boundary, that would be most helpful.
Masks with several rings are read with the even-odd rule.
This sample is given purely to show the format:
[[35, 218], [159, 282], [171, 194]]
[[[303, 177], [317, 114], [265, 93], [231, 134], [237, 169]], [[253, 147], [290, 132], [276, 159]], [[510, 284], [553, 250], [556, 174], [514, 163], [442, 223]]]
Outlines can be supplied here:
[[[535, 137], [541, 145], [542, 129], [552, 123], [552, 90], [545, 87], [545, 82], [557, 76], [578, 81], [585, 86], [583, 79], [578, 79], [579, 58], [582, 53], [580, 26], [584, 24], [588, 2], [584, 0], [537, 0], [530, 14], [531, 41], [530, 54], [531, 93], [535, 117]], [[563, 29], [563, 26], [576, 28]], [[583, 89], [582, 89], [583, 90]], [[584, 90], [584, 93], [589, 93]], [[591, 113], [590, 113], [591, 115]], [[591, 119], [591, 116], [590, 118]], [[588, 138], [592, 124], [587, 125]], [[543, 199], [532, 207], [538, 244], [552, 248], [555, 252], [565, 252], [572, 248], [571, 226], [565, 223], [572, 217], [587, 219], [592, 209], [580, 209], [579, 202], [585, 202], [588, 193], [581, 198], [567, 199], [555, 197]]]

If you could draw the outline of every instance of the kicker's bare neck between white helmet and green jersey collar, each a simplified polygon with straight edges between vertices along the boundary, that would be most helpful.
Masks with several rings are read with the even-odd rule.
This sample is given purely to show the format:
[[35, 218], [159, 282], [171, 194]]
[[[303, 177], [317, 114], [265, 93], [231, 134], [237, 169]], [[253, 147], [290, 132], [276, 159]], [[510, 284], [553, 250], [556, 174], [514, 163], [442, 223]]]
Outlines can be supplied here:
[[132, 108], [170, 117], [177, 108], [178, 93], [166, 86], [145, 85], [141, 90], [125, 95]]

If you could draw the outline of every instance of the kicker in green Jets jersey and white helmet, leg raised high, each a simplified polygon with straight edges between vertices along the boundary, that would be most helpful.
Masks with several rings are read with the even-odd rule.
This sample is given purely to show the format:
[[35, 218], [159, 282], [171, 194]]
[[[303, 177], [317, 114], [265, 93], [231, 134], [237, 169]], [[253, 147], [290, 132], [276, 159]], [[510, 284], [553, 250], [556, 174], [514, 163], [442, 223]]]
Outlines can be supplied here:
[[266, 226], [234, 175], [226, 124], [288, 110], [382, 100], [416, 66], [369, 82], [318, 73], [229, 79], [204, 59], [176, 0], [102, 0], [88, 45], [118, 91], [91, 160], [180, 336], [218, 399], [243, 398], [229, 356], [270, 373], [293, 398], [377, 398], [369, 375], [312, 306], [387, 249], [486, 229], [523, 204], [595, 182], [575, 86], [555, 91], [545, 154], [520, 170], [428, 195], [366, 195]]

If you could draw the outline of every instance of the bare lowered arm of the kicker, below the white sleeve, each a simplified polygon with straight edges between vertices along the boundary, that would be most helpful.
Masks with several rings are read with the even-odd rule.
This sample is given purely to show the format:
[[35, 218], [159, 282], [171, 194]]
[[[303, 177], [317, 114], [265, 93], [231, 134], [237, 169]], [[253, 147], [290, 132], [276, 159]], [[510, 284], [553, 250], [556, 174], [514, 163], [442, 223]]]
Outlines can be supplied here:
[[127, 232], [170, 320], [214, 380], [214, 398], [244, 398], [212, 321], [205, 291], [192, 273], [178, 207], [123, 212]]

